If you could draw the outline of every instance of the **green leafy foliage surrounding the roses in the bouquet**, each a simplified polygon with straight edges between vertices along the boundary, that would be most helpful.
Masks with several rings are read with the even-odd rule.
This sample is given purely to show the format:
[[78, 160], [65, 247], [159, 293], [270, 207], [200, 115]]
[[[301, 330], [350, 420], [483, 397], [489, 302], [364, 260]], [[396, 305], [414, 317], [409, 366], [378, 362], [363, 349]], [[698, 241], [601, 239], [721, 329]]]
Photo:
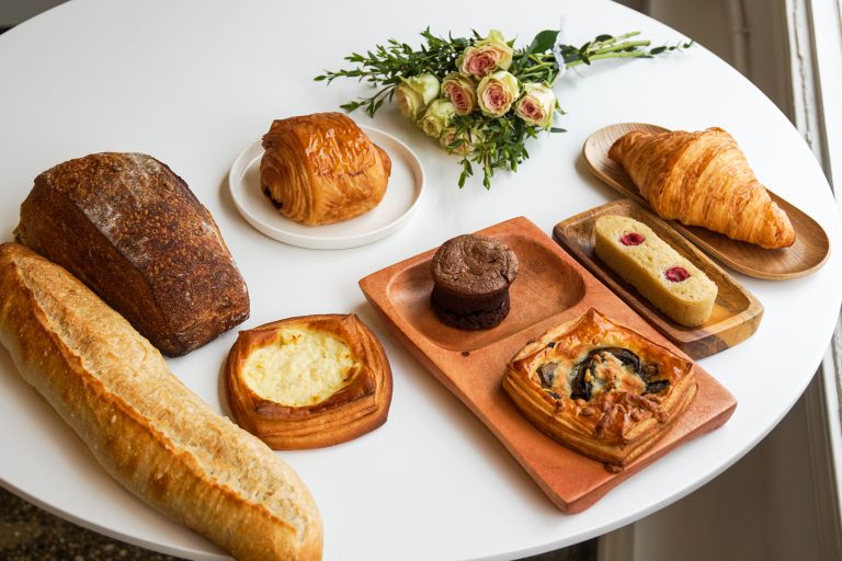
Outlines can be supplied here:
[[[544, 83], [551, 87], [555, 83], [561, 70], [553, 53], [558, 34], [558, 30], [544, 30], [535, 35], [527, 47], [513, 48], [509, 72], [514, 75], [521, 84]], [[559, 51], [565, 66], [574, 67], [591, 65], [595, 60], [606, 58], [652, 58], [690, 48], [693, 45], [691, 41], [648, 48], [648, 41], [634, 38], [638, 34], [639, 32], [616, 36], [602, 34], [579, 47], [559, 45]], [[420, 35], [423, 42], [419, 47], [389, 38], [385, 45], [376, 45], [365, 54], [352, 53], [344, 57], [345, 61], [353, 65], [351, 68], [326, 71], [314, 80], [330, 84], [337, 78], [355, 78], [360, 82], [365, 81], [371, 84], [375, 88], [373, 95], [348, 102], [341, 107], [348, 112], [362, 108], [367, 115], [374, 117], [385, 102], [391, 101], [401, 79], [431, 73], [441, 81], [448, 73], [458, 71], [456, 60], [465, 49], [486, 39], [476, 31], [471, 32], [469, 37], [448, 35], [444, 38], [431, 33], [429, 27]], [[513, 42], [510, 41], [507, 44], [513, 47]], [[556, 101], [555, 111], [564, 115], [558, 101]], [[450, 153], [460, 154], [459, 187], [465, 186], [476, 169], [481, 169], [482, 184], [486, 188], [490, 188], [494, 171], [501, 168], [516, 171], [517, 167], [530, 158], [526, 141], [546, 131], [544, 128], [527, 124], [512, 111], [501, 117], [490, 117], [475, 111], [469, 115], [454, 117], [452, 127], [455, 128], [454, 140], [444, 146], [444, 149]], [[550, 127], [549, 133], [565, 133], [565, 129]], [[466, 146], [466, 142], [469, 146]], [[473, 150], [468, 151], [471, 147]]]

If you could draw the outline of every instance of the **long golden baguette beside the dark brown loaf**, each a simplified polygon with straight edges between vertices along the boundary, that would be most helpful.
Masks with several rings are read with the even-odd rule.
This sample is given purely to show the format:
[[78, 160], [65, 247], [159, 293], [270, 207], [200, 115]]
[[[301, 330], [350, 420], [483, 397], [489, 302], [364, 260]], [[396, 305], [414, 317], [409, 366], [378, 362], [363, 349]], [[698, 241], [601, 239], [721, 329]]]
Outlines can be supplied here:
[[137, 496], [239, 560], [321, 557], [321, 520], [293, 469], [190, 391], [81, 282], [15, 243], [0, 245], [0, 342]]

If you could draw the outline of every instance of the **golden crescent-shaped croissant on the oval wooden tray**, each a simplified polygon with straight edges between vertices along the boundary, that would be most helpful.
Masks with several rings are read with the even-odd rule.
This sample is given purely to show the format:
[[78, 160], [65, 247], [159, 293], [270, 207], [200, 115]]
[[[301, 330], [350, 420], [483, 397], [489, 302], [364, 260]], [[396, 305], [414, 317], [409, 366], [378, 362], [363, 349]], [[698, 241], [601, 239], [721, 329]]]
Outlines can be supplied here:
[[737, 141], [721, 128], [618, 138], [608, 157], [667, 219], [703, 226], [763, 248], [795, 243], [789, 218], [756, 180]]

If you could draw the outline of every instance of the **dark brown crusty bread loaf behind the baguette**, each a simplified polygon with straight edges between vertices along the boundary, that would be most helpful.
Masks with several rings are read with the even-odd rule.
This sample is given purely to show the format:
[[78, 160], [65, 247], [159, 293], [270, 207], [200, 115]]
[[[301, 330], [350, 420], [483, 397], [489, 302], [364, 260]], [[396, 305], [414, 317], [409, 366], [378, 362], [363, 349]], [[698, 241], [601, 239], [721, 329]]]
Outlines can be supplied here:
[[35, 179], [18, 242], [66, 267], [162, 353], [183, 355], [249, 317], [210, 213], [170, 168], [94, 153]]

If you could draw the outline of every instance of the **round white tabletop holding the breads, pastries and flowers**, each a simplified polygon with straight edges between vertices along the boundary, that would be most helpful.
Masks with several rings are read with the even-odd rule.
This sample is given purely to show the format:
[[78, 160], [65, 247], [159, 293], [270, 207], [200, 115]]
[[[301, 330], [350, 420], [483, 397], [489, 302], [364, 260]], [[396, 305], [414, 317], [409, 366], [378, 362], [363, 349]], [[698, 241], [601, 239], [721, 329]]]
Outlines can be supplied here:
[[[682, 446], [590, 510], [564, 515], [492, 434], [399, 345], [357, 280], [386, 265], [514, 216], [548, 234], [571, 215], [616, 198], [581, 161], [584, 139], [618, 122], [720, 126], [759, 178], [842, 244], [827, 181], [808, 147], [753, 85], [702, 46], [651, 60], [570, 71], [556, 87], [569, 131], [528, 146], [516, 174], [456, 187], [459, 168], [394, 107], [375, 119], [422, 161], [428, 188], [408, 224], [373, 244], [337, 251], [285, 245], [252, 229], [227, 192], [237, 154], [273, 118], [335, 110], [364, 93], [354, 81], [314, 82], [342, 58], [389, 37], [500, 28], [519, 44], [557, 27], [573, 44], [602, 33], [679, 33], [617, 4], [585, 1], [399, 4], [273, 0], [75, 0], [0, 36], [0, 240], [39, 172], [98, 151], [143, 151], [167, 162], [216, 218], [252, 296], [243, 328], [298, 314], [356, 312], [391, 362], [388, 422], [343, 445], [281, 453], [325, 520], [326, 559], [509, 559], [600, 535], [647, 515], [737, 461], [798, 399], [827, 347], [842, 300], [838, 252], [818, 273], [767, 282], [735, 274], [765, 316], [748, 341], [703, 359], [739, 400], [720, 430]], [[174, 373], [215, 409], [236, 333], [186, 357]], [[0, 483], [83, 526], [193, 559], [224, 554], [114, 483], [0, 352]]]

